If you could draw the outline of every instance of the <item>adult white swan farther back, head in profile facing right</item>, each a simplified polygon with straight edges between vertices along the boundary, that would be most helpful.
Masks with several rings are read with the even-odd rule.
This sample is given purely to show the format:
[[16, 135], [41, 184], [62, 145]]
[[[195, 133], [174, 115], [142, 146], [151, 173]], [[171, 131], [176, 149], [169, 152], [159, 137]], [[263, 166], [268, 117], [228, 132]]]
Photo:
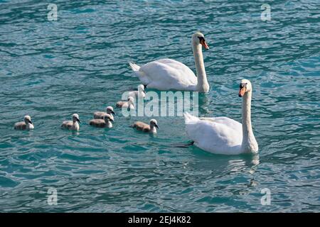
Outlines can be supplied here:
[[133, 64], [130, 67], [147, 88], [161, 91], [195, 91], [208, 92], [209, 84], [203, 62], [202, 48], [209, 49], [204, 35], [194, 33], [191, 38], [193, 57], [196, 64], [196, 75], [192, 70], [181, 62], [171, 59], [161, 59], [149, 62], [146, 65]]

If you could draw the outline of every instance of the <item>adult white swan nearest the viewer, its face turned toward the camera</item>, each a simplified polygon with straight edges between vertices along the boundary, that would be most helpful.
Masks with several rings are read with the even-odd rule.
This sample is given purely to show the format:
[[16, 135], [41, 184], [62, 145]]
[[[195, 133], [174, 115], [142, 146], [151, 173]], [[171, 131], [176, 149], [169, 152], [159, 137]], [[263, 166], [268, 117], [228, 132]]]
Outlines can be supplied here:
[[243, 96], [242, 124], [227, 117], [197, 118], [184, 114], [186, 133], [194, 145], [222, 155], [257, 153], [258, 145], [251, 126], [252, 86], [249, 80], [242, 79], [239, 96]]

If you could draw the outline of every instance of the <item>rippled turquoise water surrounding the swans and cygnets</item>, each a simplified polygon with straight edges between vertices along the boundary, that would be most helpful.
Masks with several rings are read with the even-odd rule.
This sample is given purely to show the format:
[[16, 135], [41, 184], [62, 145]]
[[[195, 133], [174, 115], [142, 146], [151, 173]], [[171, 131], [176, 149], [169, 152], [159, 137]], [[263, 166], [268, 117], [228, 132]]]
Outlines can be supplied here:
[[[53, 3], [58, 21], [48, 2], [0, 1], [0, 211], [319, 211], [319, 1], [268, 1], [271, 21], [265, 1]], [[210, 45], [199, 114], [240, 121], [238, 82], [250, 79], [258, 156], [174, 148], [188, 141], [181, 117], [156, 118], [155, 136], [128, 127], [149, 118], [119, 111], [111, 130], [88, 125], [139, 84], [127, 62], [194, 71], [198, 30]], [[73, 113], [78, 134], [59, 127]], [[26, 114], [35, 130], [14, 131]]]

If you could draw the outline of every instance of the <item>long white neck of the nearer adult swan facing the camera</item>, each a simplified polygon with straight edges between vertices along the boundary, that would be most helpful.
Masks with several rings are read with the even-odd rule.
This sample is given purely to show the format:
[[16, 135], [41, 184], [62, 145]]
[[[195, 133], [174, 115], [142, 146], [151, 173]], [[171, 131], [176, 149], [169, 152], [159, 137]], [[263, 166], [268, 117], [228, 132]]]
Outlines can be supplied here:
[[246, 92], [242, 101], [242, 144], [245, 153], [257, 153], [258, 145], [251, 126], [251, 97], [252, 92]]

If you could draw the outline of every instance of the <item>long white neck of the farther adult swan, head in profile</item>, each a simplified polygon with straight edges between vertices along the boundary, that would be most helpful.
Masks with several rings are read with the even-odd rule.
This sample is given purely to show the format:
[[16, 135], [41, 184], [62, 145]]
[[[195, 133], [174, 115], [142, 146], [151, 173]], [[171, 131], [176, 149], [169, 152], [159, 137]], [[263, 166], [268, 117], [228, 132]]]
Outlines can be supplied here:
[[203, 62], [202, 48], [200, 44], [192, 43], [193, 57], [196, 64], [198, 84], [196, 89], [198, 92], [208, 92], [209, 84], [207, 80], [207, 74]]

